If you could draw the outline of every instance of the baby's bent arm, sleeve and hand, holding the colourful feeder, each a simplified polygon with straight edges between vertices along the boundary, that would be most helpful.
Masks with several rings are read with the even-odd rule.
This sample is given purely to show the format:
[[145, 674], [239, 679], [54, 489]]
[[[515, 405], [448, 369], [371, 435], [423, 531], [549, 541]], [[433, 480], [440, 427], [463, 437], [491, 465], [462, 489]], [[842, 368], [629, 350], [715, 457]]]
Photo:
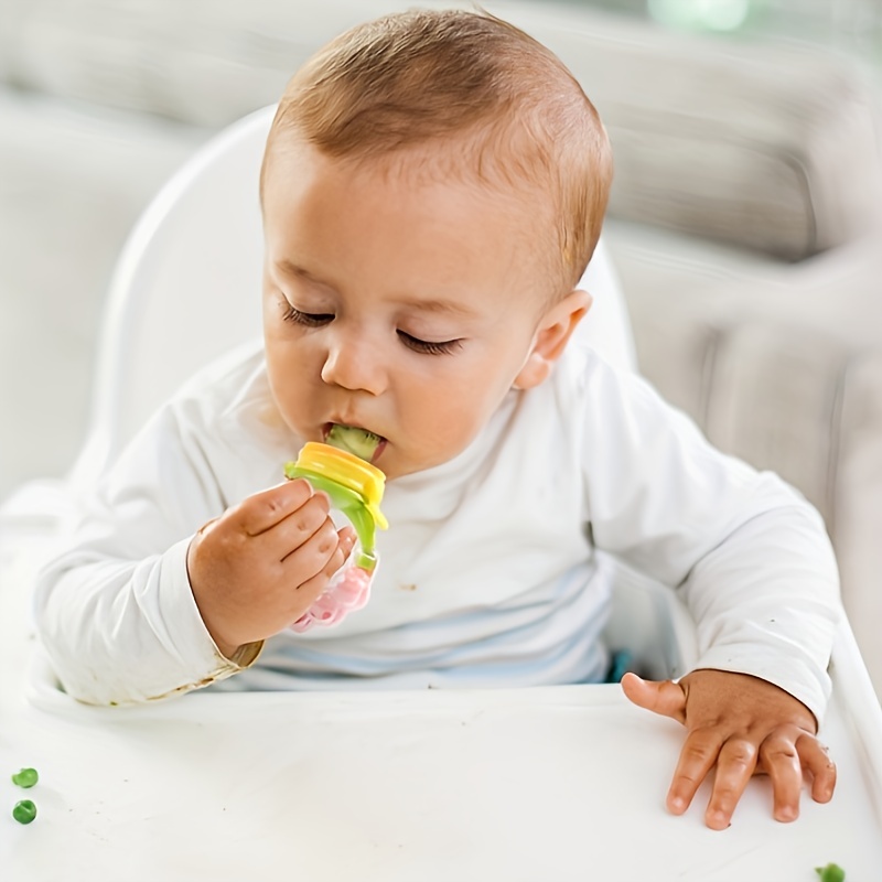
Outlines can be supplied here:
[[351, 547], [304, 482], [259, 491], [281, 477], [283, 442], [263, 452], [235, 426], [206, 426], [206, 410], [222, 407], [185, 398], [157, 415], [82, 498], [72, 541], [37, 580], [37, 634], [82, 701], [141, 702], [236, 674]]

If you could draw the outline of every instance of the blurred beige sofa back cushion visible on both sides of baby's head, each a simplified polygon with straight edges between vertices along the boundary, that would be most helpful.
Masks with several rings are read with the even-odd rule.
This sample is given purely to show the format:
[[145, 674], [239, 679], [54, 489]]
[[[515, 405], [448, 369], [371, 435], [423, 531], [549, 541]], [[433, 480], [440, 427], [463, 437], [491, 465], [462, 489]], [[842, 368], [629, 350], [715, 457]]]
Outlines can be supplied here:
[[[411, 4], [7, 0], [0, 76], [220, 127], [275, 101], [338, 31]], [[882, 202], [873, 98], [841, 60], [560, 3], [487, 7], [555, 49], [598, 105], [613, 215], [799, 260], [848, 241]]]

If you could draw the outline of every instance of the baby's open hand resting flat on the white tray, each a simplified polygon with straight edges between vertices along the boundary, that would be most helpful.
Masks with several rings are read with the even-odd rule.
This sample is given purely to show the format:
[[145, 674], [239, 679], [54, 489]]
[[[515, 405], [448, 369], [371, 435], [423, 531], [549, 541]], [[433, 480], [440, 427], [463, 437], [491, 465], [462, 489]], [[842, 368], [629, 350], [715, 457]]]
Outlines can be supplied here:
[[713, 830], [729, 827], [754, 774], [772, 778], [776, 820], [798, 817], [804, 771], [813, 778], [813, 799], [827, 803], [832, 797], [836, 765], [815, 735], [815, 717], [777, 686], [746, 674], [693, 670], [676, 684], [626, 674], [622, 688], [635, 704], [679, 720], [688, 730], [667, 796], [675, 815], [686, 811], [714, 765], [704, 813]]

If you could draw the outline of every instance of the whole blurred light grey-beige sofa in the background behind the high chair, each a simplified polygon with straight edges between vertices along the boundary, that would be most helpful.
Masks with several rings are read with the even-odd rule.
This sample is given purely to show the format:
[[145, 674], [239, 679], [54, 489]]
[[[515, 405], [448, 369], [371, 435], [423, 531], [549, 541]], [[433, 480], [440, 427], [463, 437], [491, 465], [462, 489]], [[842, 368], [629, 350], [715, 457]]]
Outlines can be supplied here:
[[[276, 100], [333, 34], [410, 6], [3, 0], [0, 400], [12, 419], [0, 495], [73, 461], [105, 287], [160, 184]], [[882, 158], [869, 77], [820, 51], [677, 35], [574, 2], [485, 6], [555, 49], [606, 122], [606, 238], [641, 370], [718, 447], [820, 509], [882, 693]]]

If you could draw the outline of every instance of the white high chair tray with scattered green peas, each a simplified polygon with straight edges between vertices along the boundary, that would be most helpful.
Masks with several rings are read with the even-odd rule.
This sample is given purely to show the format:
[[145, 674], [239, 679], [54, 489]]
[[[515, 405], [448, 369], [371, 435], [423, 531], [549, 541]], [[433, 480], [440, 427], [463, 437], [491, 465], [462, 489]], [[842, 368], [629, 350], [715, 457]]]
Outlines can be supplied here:
[[[77, 704], [43, 680], [2, 767], [41, 774], [36, 820], [3, 814], [9, 880], [762, 880], [810, 882], [837, 862], [878, 880], [875, 771], [835, 699], [824, 738], [831, 804], [771, 817], [754, 779], [732, 827], [664, 808], [680, 727], [615, 686], [191, 695]], [[878, 747], [879, 745], [876, 745]]]

